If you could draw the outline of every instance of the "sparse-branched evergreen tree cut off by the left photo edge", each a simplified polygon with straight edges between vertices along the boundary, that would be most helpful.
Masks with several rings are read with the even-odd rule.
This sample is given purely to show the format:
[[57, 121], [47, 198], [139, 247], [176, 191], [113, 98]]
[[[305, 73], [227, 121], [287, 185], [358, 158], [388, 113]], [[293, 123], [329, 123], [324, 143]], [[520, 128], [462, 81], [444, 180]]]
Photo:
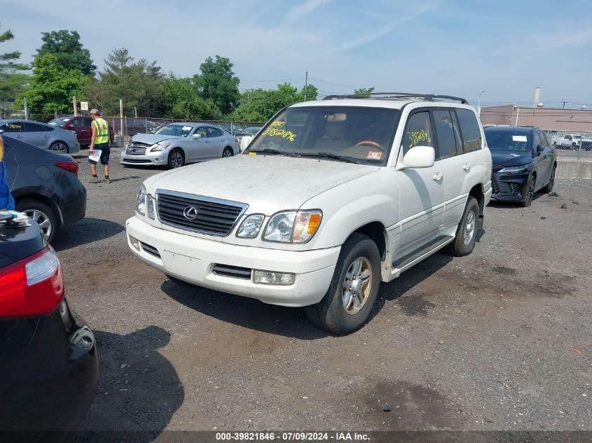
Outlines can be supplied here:
[[[0, 34], [0, 43], [14, 38], [10, 29]], [[24, 89], [29, 76], [30, 66], [19, 62], [20, 52], [4, 52], [0, 54], [0, 116], [4, 118], [12, 107], [15, 97]]]

